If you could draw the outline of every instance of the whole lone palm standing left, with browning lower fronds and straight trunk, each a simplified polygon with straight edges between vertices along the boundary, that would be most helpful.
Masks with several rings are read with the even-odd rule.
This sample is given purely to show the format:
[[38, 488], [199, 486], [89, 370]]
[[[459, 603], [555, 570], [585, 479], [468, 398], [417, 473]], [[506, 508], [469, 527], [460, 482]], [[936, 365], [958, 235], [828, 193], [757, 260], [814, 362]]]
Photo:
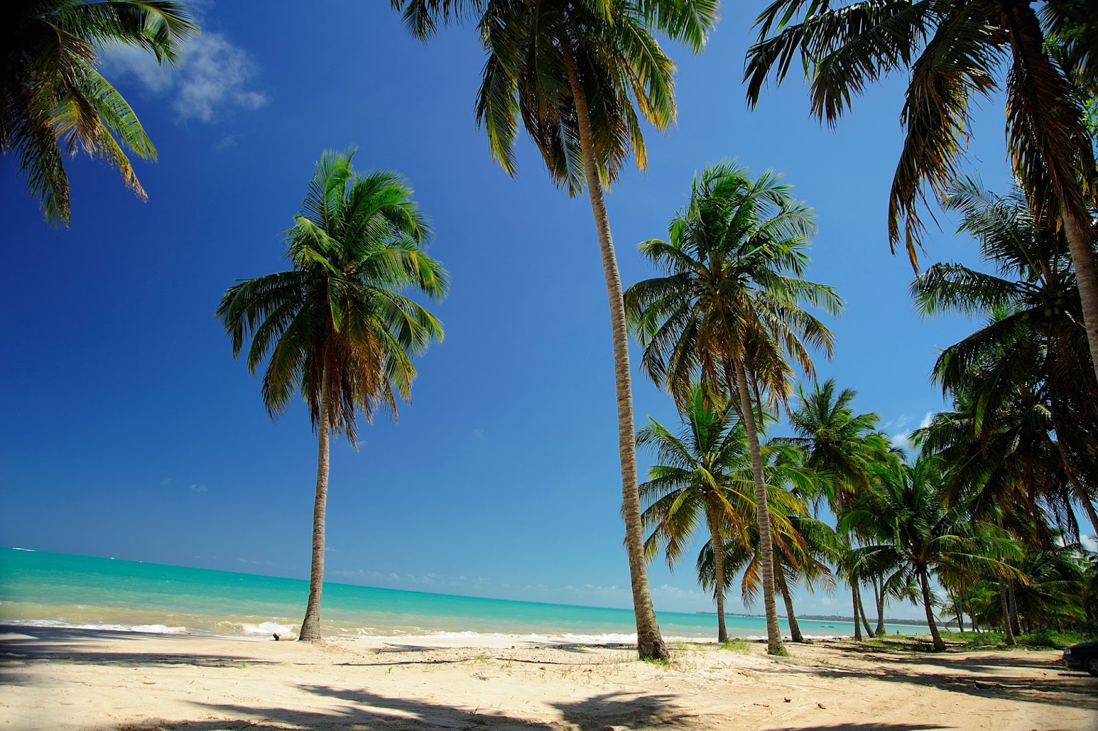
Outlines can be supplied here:
[[271, 417], [294, 391], [317, 431], [316, 499], [309, 605], [300, 638], [318, 640], [324, 580], [324, 514], [332, 434], [357, 446], [357, 414], [396, 416], [411, 395], [412, 358], [442, 338], [442, 326], [402, 295], [446, 293], [449, 275], [424, 251], [430, 230], [407, 182], [391, 172], [356, 173], [354, 150], [325, 151], [287, 229], [293, 269], [238, 281], [217, 317], [253, 374], [267, 361], [262, 398]]

